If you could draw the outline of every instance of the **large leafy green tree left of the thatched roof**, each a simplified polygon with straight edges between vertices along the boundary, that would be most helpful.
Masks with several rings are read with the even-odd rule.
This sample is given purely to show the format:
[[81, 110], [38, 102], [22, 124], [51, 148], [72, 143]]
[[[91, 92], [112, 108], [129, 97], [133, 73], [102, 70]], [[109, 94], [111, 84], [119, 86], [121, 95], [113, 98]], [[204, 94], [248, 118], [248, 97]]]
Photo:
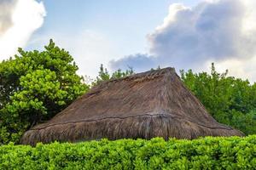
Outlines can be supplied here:
[[73, 57], [50, 40], [0, 63], [0, 143], [18, 142], [28, 128], [49, 120], [89, 87]]

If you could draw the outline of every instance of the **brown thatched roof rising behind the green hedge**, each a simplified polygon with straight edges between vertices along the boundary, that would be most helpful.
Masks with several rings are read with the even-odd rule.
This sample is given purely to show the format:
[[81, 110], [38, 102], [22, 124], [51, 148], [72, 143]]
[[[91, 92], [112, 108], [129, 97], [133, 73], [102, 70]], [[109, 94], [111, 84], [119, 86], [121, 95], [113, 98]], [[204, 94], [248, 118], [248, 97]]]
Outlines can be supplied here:
[[102, 82], [49, 122], [27, 131], [21, 144], [55, 140], [243, 135], [216, 122], [173, 68]]

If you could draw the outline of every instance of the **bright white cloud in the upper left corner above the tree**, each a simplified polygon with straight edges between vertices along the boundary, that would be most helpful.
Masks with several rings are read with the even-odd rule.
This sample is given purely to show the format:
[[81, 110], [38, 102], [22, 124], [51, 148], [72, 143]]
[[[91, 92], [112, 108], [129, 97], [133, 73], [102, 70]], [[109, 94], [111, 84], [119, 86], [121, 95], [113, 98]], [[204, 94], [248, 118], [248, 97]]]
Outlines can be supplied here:
[[46, 15], [44, 4], [36, 0], [0, 1], [0, 59], [24, 47], [32, 33], [41, 27]]

